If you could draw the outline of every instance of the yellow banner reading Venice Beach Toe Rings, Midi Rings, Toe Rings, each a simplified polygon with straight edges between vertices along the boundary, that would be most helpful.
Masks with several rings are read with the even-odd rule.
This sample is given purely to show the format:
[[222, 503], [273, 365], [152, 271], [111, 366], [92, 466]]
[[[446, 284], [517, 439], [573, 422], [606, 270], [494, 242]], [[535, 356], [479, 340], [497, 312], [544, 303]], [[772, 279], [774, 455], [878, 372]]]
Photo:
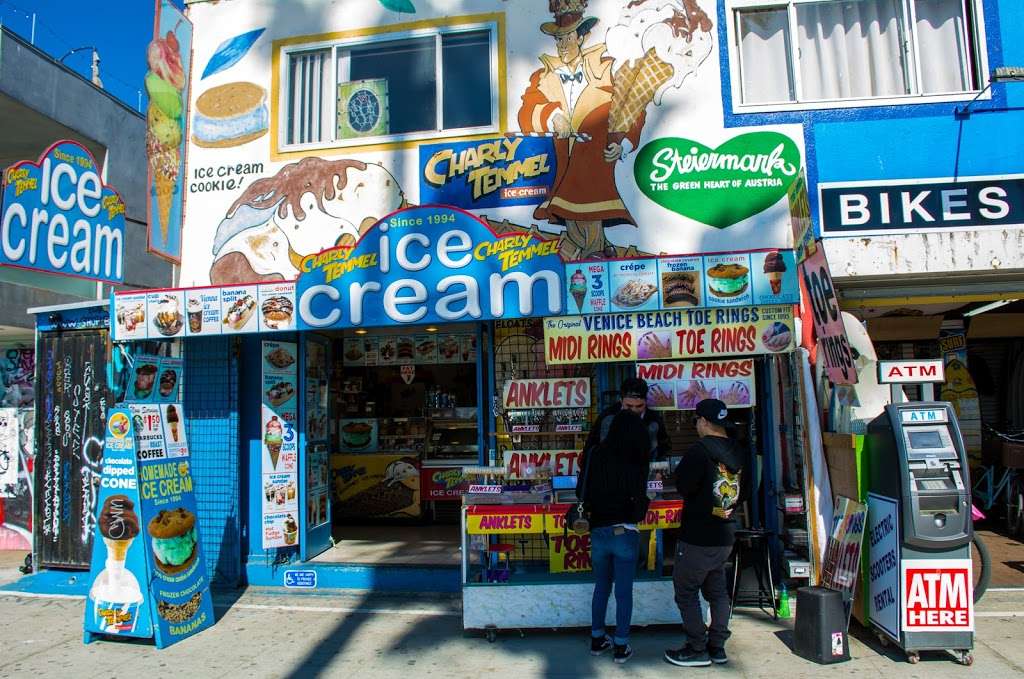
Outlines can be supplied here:
[[791, 305], [544, 320], [549, 366], [780, 353], [793, 349], [795, 340]]

